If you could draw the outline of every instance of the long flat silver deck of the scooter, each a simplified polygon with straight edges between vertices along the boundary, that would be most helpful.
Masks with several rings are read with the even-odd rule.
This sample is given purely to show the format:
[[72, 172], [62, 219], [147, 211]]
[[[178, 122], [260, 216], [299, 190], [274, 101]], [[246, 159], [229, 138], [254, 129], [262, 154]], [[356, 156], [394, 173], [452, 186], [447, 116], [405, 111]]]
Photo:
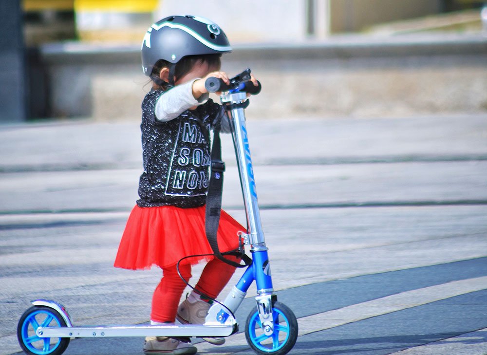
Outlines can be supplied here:
[[113, 325], [80, 327], [39, 327], [37, 336], [54, 337], [110, 337], [110, 336], [229, 336], [237, 332], [237, 324], [207, 325]]

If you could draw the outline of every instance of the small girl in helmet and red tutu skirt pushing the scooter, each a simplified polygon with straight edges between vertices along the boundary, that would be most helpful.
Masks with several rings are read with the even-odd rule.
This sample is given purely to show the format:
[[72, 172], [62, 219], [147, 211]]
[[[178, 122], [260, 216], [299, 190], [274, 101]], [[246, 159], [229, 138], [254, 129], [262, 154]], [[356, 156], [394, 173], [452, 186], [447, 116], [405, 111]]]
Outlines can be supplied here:
[[[216, 298], [235, 268], [206, 257], [203, 273], [187, 299], [178, 303], [186, 284], [176, 264], [185, 257], [212, 254], [205, 233], [206, 190], [209, 183], [209, 130], [220, 105], [208, 99], [207, 77], [219, 77], [220, 57], [231, 51], [224, 32], [215, 23], [193, 16], [171, 16], [154, 23], [142, 44], [142, 67], [152, 79], [152, 90], [142, 103], [142, 148], [144, 172], [140, 177], [137, 205], [123, 233], [115, 267], [147, 269], [157, 265], [163, 278], [152, 297], [151, 324], [203, 324], [210, 300]], [[252, 78], [254, 84], [257, 83]], [[203, 128], [202, 128], [203, 127]], [[228, 119], [222, 131], [229, 131]], [[245, 228], [221, 212], [218, 244], [222, 252], [238, 247], [239, 231]], [[204, 257], [203, 257], [204, 258]], [[234, 262], [236, 257], [226, 256]], [[180, 263], [185, 280], [191, 264]], [[204, 338], [221, 345], [224, 338]], [[147, 337], [146, 355], [195, 354], [191, 344], [167, 337]]]

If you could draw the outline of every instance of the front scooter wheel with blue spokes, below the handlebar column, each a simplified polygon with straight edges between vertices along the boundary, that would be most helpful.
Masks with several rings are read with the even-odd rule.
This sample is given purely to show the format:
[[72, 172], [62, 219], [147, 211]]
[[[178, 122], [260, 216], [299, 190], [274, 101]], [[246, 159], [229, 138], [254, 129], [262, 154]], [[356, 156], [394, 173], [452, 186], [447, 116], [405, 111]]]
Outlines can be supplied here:
[[264, 334], [259, 312], [255, 307], [250, 312], [245, 324], [245, 337], [250, 347], [257, 354], [287, 354], [298, 338], [298, 321], [293, 311], [281, 302], [272, 305], [274, 331]]

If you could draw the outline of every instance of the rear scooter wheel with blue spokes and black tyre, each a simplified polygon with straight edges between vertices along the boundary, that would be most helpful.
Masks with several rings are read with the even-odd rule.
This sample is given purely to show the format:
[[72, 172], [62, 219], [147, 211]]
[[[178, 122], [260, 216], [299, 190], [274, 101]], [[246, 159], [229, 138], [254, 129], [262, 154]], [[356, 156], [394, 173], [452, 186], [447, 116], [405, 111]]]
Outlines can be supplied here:
[[54, 309], [34, 306], [24, 312], [17, 326], [17, 338], [28, 355], [60, 355], [68, 347], [70, 338], [41, 338], [38, 327], [65, 327], [66, 322]]

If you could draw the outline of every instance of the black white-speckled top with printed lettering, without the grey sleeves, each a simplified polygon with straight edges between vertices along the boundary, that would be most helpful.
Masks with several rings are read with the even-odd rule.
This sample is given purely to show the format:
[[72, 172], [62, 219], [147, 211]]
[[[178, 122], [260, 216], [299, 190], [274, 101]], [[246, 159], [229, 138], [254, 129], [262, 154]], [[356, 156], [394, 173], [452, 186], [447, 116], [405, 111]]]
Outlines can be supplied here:
[[209, 131], [220, 105], [209, 99], [196, 110], [186, 110], [161, 122], [154, 111], [163, 93], [151, 91], [142, 102], [144, 172], [139, 180], [137, 205], [203, 206], [209, 179]]

